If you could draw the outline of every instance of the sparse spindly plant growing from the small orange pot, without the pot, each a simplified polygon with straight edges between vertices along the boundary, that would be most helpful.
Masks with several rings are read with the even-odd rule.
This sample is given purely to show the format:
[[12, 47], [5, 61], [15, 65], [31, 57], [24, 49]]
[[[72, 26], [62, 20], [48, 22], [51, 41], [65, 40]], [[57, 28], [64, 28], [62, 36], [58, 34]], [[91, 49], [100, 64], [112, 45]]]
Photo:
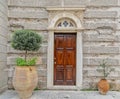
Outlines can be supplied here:
[[102, 69], [97, 69], [98, 72], [102, 72], [103, 73], [103, 79], [106, 79], [108, 77], [108, 75], [114, 71], [114, 68], [110, 68], [110, 66], [108, 66], [108, 63], [106, 60], [102, 60], [102, 62], [100, 62], [99, 67], [101, 67]]

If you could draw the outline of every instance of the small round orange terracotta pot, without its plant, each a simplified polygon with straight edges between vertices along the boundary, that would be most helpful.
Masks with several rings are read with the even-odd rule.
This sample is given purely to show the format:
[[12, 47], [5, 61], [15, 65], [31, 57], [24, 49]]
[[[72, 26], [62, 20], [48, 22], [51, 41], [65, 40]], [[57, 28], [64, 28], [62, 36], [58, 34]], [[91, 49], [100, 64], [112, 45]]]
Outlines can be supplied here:
[[100, 94], [105, 95], [109, 91], [109, 88], [110, 88], [110, 86], [106, 79], [101, 79], [98, 82], [98, 90], [99, 90]]

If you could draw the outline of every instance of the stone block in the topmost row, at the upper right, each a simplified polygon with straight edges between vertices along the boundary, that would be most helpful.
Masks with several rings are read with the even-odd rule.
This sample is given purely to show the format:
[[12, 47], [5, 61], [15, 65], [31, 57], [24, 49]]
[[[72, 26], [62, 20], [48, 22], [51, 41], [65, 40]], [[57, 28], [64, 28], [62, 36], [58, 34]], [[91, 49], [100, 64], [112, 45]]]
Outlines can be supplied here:
[[88, 4], [89, 6], [117, 6], [118, 5], [118, 0], [90, 0], [90, 3]]

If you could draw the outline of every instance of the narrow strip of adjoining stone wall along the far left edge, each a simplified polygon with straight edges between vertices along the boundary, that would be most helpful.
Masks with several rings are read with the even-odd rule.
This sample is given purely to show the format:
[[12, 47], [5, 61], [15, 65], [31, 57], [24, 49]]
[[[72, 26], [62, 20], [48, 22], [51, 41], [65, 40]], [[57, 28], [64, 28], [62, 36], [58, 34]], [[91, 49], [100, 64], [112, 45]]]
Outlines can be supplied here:
[[7, 0], [0, 1], [0, 92], [7, 89]]

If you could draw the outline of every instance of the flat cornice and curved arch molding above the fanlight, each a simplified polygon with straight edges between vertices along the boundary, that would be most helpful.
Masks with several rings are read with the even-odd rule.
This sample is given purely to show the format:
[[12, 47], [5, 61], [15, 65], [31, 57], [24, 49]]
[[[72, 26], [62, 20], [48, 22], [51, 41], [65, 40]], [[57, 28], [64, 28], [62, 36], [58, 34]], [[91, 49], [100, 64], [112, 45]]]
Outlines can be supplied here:
[[80, 26], [77, 26], [77, 28], [83, 29], [82, 24], [83, 24], [83, 15], [85, 8], [48, 7], [46, 9], [49, 13], [49, 18], [48, 18], [49, 27], [51, 27], [51, 24], [55, 24], [53, 21], [58, 21], [60, 18], [69, 18], [73, 20], [75, 23], [81, 24]]

